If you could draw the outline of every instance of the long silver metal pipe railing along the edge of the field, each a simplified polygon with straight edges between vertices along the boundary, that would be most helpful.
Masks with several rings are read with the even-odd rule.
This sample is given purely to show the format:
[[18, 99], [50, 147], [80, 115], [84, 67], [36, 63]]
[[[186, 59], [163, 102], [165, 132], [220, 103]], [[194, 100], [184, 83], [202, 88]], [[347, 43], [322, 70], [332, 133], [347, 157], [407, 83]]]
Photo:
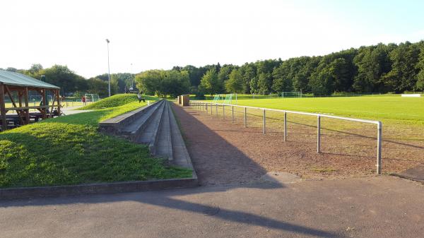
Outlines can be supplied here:
[[337, 116], [331, 116], [328, 114], [318, 114], [318, 113], [311, 113], [311, 112], [295, 112], [295, 111], [289, 111], [289, 110], [280, 110], [280, 109], [269, 109], [269, 108], [263, 108], [263, 107], [249, 107], [249, 106], [240, 106], [240, 105], [229, 105], [229, 104], [223, 104], [223, 103], [216, 103], [216, 102], [200, 102], [200, 101], [190, 101], [190, 106], [196, 107], [197, 109], [204, 110], [207, 113], [211, 111], [211, 114], [213, 114], [213, 107], [215, 107], [215, 114], [218, 114], [218, 106], [223, 107], [223, 117], [225, 118], [225, 107], [231, 108], [231, 117], [232, 122], [234, 122], [234, 107], [241, 107], [244, 108], [244, 124], [245, 127], [247, 127], [247, 109], [257, 109], [263, 111], [263, 133], [266, 133], [266, 111], [269, 112], [282, 112], [284, 114], [283, 119], [283, 140], [284, 142], [287, 140], [287, 114], [300, 114], [300, 115], [306, 115], [306, 116], [314, 116], [317, 117], [317, 153], [321, 153], [321, 118], [331, 118], [331, 119], [339, 119], [344, 121], [355, 121], [365, 124], [375, 124], [377, 125], [377, 174], [381, 174], [382, 169], [382, 122], [381, 121], [371, 121], [371, 120], [365, 120], [365, 119], [355, 119], [355, 118], [349, 118], [349, 117], [337, 117]]

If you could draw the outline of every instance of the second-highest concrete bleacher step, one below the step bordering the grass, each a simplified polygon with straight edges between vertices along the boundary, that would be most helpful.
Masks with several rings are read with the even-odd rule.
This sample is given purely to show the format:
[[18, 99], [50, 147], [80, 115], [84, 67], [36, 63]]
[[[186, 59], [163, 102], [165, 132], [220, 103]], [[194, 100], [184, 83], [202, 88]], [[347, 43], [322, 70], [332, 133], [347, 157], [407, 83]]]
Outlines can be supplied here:
[[163, 108], [163, 105], [165, 105], [164, 101], [149, 107], [139, 118], [135, 119], [131, 122], [131, 124], [125, 126], [121, 130], [122, 136], [127, 137], [134, 142], [139, 141], [143, 131], [148, 128], [152, 121], [154, 123], [155, 116], [157, 116], [157, 112]]

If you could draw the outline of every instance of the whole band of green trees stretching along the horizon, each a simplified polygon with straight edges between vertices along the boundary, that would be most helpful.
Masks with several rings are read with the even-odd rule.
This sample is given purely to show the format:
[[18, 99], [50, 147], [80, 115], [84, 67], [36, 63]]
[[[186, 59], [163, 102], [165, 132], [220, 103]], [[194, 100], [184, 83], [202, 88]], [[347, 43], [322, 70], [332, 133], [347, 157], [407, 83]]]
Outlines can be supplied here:
[[[28, 70], [8, 68], [58, 85], [62, 93], [107, 95], [107, 74], [83, 78], [54, 65], [43, 69], [33, 64]], [[135, 76], [111, 74], [112, 94], [124, 93], [135, 81], [143, 93], [172, 96], [192, 93], [199, 97], [216, 93], [298, 91], [316, 96], [334, 93], [404, 93], [424, 90], [424, 41], [377, 44], [333, 52], [324, 56], [300, 56], [286, 60], [266, 59], [245, 63], [206, 66], [174, 66], [153, 69]]]

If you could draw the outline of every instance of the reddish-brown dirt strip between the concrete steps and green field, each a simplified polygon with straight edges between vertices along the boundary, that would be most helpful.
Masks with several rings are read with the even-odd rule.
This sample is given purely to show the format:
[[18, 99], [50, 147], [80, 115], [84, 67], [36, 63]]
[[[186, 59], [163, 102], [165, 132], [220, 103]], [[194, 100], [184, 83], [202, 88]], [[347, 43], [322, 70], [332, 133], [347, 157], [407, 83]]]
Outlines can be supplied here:
[[[201, 184], [247, 182], [266, 172], [290, 172], [305, 179], [358, 177], [375, 174], [375, 127], [353, 127], [338, 131], [325, 121], [322, 153], [317, 153], [316, 127], [291, 117], [288, 141], [283, 141], [281, 121], [267, 119], [266, 134], [262, 119], [249, 114], [245, 128], [242, 114], [231, 121], [230, 110], [222, 118], [221, 109], [213, 115], [199, 109], [174, 107], [184, 140], [192, 156]], [[272, 116], [271, 116], [272, 117]], [[385, 135], [389, 135], [386, 131]], [[358, 136], [365, 135], [365, 136]], [[382, 172], [401, 172], [420, 164], [421, 141], [383, 142]]]

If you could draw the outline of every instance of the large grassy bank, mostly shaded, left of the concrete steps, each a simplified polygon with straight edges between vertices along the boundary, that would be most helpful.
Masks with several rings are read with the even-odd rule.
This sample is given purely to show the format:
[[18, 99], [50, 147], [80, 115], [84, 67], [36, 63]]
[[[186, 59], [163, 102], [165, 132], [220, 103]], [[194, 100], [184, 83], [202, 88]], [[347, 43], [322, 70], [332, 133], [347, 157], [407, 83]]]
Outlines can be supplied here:
[[121, 105], [99, 101], [98, 107], [106, 108], [1, 132], [0, 187], [191, 177], [191, 170], [151, 157], [146, 145], [98, 133], [99, 121], [146, 105], [127, 102], [126, 95], [114, 97]]

